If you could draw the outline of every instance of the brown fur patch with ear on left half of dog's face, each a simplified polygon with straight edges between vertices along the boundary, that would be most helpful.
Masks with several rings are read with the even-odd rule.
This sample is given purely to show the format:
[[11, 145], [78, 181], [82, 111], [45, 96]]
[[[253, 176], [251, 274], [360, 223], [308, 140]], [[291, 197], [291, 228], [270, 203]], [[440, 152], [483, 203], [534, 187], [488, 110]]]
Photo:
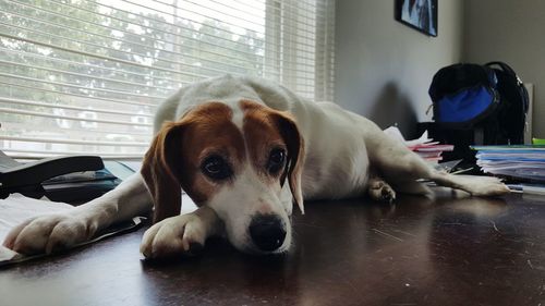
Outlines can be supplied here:
[[198, 206], [215, 194], [219, 184], [201, 172], [201, 163], [208, 155], [223, 157], [235, 173], [241, 168], [244, 139], [231, 119], [228, 106], [208, 102], [178, 122], [164, 124], [142, 166], [154, 198], [154, 222], [180, 213], [180, 186]]

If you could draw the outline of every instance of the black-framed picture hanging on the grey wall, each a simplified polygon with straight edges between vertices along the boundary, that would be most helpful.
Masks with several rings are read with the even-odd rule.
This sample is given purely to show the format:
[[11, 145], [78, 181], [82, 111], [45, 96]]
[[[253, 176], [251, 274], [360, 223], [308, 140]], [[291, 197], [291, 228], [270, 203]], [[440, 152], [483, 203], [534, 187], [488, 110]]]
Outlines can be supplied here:
[[395, 0], [396, 20], [428, 36], [437, 36], [437, 0]]

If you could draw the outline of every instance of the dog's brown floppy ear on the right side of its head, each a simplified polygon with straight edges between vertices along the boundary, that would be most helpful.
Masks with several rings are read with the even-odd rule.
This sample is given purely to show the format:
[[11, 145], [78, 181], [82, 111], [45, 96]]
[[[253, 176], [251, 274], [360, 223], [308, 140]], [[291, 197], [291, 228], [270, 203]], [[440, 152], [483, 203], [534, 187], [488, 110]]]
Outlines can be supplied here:
[[301, 210], [301, 213], [304, 215], [303, 192], [301, 188], [301, 173], [303, 171], [305, 156], [304, 139], [299, 132], [295, 121], [289, 114], [275, 112], [272, 118], [276, 121], [278, 130], [280, 131], [280, 135], [286, 142], [286, 146], [288, 147], [286, 171], [282, 174], [280, 182], [283, 183], [286, 176], [288, 176], [293, 199]]

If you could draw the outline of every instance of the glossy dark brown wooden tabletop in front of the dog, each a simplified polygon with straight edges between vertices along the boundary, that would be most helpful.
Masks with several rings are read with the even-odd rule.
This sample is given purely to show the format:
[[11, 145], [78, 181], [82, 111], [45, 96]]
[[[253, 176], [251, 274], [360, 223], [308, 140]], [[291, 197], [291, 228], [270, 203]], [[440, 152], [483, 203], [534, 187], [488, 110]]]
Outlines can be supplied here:
[[144, 229], [0, 270], [0, 305], [545, 305], [545, 199], [307, 203], [295, 245], [147, 262]]

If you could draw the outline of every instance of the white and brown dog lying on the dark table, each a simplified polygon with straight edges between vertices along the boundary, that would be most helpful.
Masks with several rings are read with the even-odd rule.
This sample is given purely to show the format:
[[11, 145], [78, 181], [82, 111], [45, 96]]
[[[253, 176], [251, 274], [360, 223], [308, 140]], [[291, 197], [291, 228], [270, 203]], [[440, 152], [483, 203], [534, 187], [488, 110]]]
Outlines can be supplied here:
[[[154, 128], [141, 173], [70, 212], [17, 225], [3, 245], [51, 253], [153, 209], [146, 258], [193, 254], [211, 235], [245, 253], [278, 254], [292, 244], [290, 217], [294, 205], [304, 213], [303, 199], [431, 194], [419, 179], [473, 196], [509, 192], [495, 178], [436, 171], [372, 121], [259, 78], [185, 86], [158, 108]], [[181, 189], [195, 211], [180, 215]]]

